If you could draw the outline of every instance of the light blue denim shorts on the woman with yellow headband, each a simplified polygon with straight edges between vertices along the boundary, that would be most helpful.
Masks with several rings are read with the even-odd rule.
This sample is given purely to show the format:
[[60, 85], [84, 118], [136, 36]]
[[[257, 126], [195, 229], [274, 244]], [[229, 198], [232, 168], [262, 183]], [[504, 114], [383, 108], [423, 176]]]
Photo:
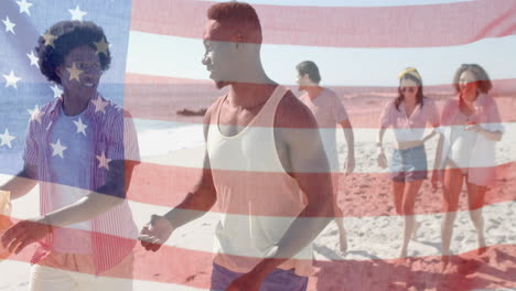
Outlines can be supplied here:
[[424, 180], [427, 173], [427, 153], [424, 146], [406, 150], [394, 150], [389, 164], [389, 177], [395, 182]]

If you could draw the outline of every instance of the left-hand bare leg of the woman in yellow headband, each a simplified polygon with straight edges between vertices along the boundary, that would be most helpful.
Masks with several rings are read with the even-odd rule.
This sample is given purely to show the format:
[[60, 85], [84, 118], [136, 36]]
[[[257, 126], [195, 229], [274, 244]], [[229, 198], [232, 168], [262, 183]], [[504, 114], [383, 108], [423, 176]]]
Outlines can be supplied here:
[[404, 242], [401, 245], [400, 257], [407, 257], [408, 244], [413, 234], [416, 217], [413, 216], [413, 205], [416, 197], [422, 185], [422, 180], [411, 181], [405, 184], [402, 212], [405, 217]]

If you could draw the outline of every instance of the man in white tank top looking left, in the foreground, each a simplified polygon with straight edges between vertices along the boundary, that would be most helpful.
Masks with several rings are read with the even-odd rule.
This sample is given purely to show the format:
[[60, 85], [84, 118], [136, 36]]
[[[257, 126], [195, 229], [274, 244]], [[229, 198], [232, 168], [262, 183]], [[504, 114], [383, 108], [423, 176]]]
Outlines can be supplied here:
[[207, 15], [203, 64], [217, 88], [229, 90], [204, 117], [207, 147], [196, 187], [176, 208], [152, 217], [142, 246], [158, 250], [175, 228], [217, 203], [212, 290], [307, 290], [310, 246], [333, 215], [316, 121], [266, 75], [252, 7], [217, 3]]

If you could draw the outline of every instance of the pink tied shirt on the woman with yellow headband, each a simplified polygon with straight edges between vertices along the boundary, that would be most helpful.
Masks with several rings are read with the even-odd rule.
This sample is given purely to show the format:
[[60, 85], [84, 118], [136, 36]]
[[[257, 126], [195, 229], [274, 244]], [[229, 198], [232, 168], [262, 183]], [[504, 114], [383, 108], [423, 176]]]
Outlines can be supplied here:
[[410, 117], [407, 116], [405, 103], [396, 109], [395, 100], [389, 101], [380, 115], [380, 127], [393, 127], [397, 141], [421, 140], [427, 126], [439, 125], [439, 112], [436, 101], [423, 99], [423, 106], [417, 106]]

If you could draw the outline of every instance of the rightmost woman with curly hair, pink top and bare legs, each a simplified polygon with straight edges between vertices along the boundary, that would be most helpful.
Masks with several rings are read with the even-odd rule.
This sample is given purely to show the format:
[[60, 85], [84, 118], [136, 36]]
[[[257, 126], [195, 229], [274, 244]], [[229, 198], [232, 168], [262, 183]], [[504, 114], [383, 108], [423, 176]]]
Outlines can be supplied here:
[[442, 179], [444, 217], [442, 220], [442, 261], [449, 262], [453, 222], [459, 207], [462, 185], [466, 184], [470, 217], [476, 228], [479, 254], [485, 249], [482, 206], [485, 192], [494, 184], [495, 142], [502, 139], [503, 127], [495, 100], [487, 95], [493, 87], [487, 73], [480, 65], [459, 67], [453, 78], [456, 97], [442, 110], [442, 133], [436, 154], [432, 175], [437, 188]]

